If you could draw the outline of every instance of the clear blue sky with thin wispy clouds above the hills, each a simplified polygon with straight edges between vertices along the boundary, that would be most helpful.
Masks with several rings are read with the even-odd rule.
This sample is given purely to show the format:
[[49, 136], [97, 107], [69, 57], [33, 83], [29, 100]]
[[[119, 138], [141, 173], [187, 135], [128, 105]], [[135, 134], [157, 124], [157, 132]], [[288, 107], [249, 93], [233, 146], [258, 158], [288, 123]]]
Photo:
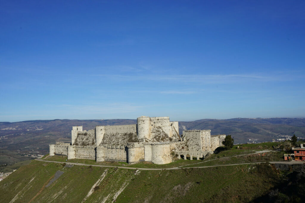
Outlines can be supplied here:
[[0, 0], [0, 121], [305, 117], [304, 11]]

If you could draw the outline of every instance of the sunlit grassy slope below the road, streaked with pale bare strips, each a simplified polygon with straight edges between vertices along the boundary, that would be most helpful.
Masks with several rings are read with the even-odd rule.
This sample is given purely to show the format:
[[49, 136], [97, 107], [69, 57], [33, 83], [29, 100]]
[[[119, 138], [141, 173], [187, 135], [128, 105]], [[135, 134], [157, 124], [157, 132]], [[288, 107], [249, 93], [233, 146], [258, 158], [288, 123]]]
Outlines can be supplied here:
[[[33, 160], [0, 182], [2, 202], [81, 202], [105, 169]], [[58, 170], [63, 175], [45, 187]], [[179, 170], [107, 168], [104, 175], [86, 202], [245, 202], [265, 194], [279, 179], [276, 169], [267, 164]]]

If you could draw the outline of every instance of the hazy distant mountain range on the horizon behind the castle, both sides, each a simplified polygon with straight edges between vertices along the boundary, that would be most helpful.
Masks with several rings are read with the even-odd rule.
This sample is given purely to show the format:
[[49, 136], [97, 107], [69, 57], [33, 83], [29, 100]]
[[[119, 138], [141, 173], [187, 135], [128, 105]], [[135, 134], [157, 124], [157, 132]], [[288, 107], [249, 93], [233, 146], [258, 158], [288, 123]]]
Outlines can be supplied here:
[[[36, 120], [0, 122], [0, 149], [20, 153], [48, 153], [48, 145], [55, 142], [71, 142], [72, 126], [90, 130], [97, 125], [136, 124], [137, 120]], [[212, 135], [226, 134], [235, 143], [266, 142], [292, 135], [305, 137], [305, 118], [232, 118], [179, 121], [179, 134], [183, 130], [210, 129]], [[250, 139], [250, 141], [249, 141]]]

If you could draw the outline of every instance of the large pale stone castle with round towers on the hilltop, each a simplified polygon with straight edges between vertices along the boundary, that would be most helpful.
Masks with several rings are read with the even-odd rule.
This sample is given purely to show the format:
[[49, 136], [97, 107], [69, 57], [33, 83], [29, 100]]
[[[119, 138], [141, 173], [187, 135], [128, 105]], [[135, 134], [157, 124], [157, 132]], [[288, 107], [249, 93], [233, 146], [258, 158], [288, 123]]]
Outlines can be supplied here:
[[50, 156], [67, 155], [68, 159], [93, 159], [155, 164], [172, 162], [174, 157], [192, 160], [206, 156], [222, 145], [225, 135], [211, 135], [210, 130], [178, 133], [178, 122], [169, 117], [138, 117], [137, 124], [96, 126], [84, 130], [72, 127], [72, 143], [56, 142], [50, 146]]

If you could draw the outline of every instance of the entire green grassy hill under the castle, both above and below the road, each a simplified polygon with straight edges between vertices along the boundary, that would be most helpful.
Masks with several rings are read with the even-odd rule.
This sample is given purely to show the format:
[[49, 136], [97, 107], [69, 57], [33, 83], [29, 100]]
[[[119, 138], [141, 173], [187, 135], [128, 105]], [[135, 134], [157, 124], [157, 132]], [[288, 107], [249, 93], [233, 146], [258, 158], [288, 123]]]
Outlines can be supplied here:
[[[165, 165], [69, 160], [72, 163], [127, 166], [133, 169], [70, 165], [65, 161], [66, 156], [46, 158], [63, 163], [32, 160], [0, 182], [1, 201], [298, 202], [304, 196], [300, 188], [305, 187], [305, 167], [295, 173], [292, 168], [288, 171], [277, 170], [269, 163], [251, 164], [282, 160], [283, 152], [272, 150], [272, 146], [277, 144], [281, 143], [235, 145], [231, 150], [220, 151], [203, 160], [180, 159]], [[221, 166], [234, 163], [245, 164]], [[181, 168], [160, 169], [177, 166]], [[197, 166], [214, 167], [185, 168]], [[62, 175], [59, 176], [59, 173]]]

